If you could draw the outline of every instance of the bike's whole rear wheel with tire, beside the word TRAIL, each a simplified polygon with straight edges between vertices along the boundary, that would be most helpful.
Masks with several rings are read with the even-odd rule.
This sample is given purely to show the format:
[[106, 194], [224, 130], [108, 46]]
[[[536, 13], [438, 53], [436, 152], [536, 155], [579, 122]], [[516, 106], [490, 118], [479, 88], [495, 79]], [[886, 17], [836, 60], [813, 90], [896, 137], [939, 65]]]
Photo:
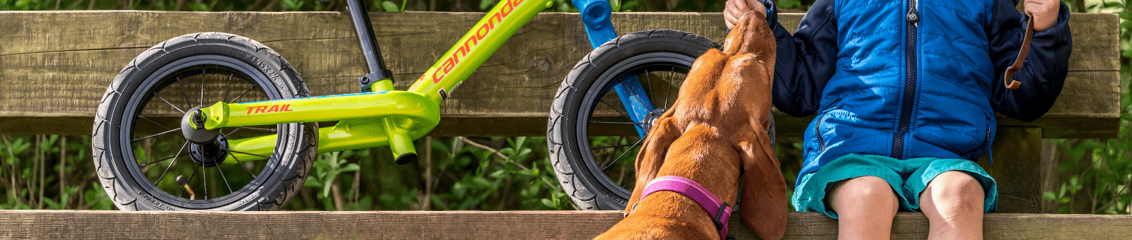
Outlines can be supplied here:
[[[192, 94], [186, 94], [186, 89]], [[237, 94], [240, 96], [231, 97]], [[309, 95], [290, 63], [247, 37], [196, 33], [162, 42], [127, 65], [98, 104], [93, 132], [98, 180], [114, 205], [123, 211], [280, 209], [302, 187], [315, 161], [316, 123], [226, 128], [220, 131], [221, 137], [207, 144], [187, 142], [181, 130], [174, 128], [180, 127], [182, 112], [212, 105], [217, 100], [251, 102]], [[237, 132], [240, 129], [245, 130]], [[275, 136], [276, 145], [271, 155], [265, 155], [266, 160], [249, 157], [238, 164], [209, 162], [217, 160], [215, 153], [222, 153], [220, 160], [226, 154], [234, 157], [232, 152], [212, 152], [222, 149], [217, 147], [221, 144], [228, 146], [228, 136]], [[180, 148], [166, 151], [170, 153], [144, 152], [158, 152], [158, 146]], [[169, 155], [154, 157], [156, 154]], [[155, 177], [157, 173], [161, 177]], [[183, 179], [188, 191], [196, 192], [195, 197], [185, 196], [187, 188], [175, 182], [174, 174], [188, 175]], [[207, 182], [209, 178], [212, 185]], [[221, 180], [223, 185], [217, 182]]]

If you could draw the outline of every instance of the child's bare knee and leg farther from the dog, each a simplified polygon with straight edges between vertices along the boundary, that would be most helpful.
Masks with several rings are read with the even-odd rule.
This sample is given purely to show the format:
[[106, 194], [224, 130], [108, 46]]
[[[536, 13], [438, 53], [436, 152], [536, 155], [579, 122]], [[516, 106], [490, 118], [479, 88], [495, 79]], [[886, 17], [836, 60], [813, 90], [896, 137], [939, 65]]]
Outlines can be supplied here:
[[984, 195], [964, 172], [936, 175], [920, 194], [920, 211], [932, 223], [928, 239], [983, 239]]

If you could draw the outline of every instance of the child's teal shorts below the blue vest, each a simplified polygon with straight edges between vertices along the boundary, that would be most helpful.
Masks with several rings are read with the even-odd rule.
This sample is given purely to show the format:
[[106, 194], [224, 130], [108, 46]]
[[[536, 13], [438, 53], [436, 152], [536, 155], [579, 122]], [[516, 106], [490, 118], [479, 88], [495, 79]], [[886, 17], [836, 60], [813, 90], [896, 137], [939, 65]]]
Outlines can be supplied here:
[[818, 212], [838, 218], [838, 214], [825, 207], [825, 192], [838, 181], [873, 175], [892, 186], [900, 202], [900, 212], [920, 212], [919, 195], [936, 175], [946, 171], [961, 171], [970, 174], [983, 185], [986, 191], [984, 212], [993, 213], [998, 202], [998, 190], [994, 179], [975, 162], [954, 158], [921, 157], [900, 161], [887, 156], [849, 154], [833, 160], [816, 172], [798, 178], [795, 188], [794, 208], [804, 212]]

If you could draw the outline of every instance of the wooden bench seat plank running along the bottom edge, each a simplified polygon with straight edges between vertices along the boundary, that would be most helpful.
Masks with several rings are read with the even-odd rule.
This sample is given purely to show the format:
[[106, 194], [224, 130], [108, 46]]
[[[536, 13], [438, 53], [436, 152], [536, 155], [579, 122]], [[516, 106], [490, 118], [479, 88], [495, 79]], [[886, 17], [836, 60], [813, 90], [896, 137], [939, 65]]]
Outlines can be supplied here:
[[[615, 211], [524, 212], [118, 212], [0, 211], [3, 239], [590, 239]], [[837, 239], [837, 220], [791, 212], [786, 239]], [[986, 214], [986, 239], [1116, 239], [1132, 215]], [[899, 213], [893, 239], [925, 239], [920, 213]], [[729, 234], [753, 239], [739, 220]]]

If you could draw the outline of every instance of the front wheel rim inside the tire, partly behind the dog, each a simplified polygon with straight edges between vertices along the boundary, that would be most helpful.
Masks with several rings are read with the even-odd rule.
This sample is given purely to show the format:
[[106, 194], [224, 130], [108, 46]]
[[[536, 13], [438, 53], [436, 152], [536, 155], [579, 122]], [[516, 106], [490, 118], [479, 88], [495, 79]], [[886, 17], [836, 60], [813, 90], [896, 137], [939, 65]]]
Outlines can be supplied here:
[[[620, 79], [637, 76], [657, 109], [668, 109], [676, 101], [694, 57], [654, 52], [620, 61], [594, 80], [581, 108], [576, 126], [577, 143], [585, 171], [604, 186], [609, 194], [628, 199], [636, 181], [634, 162], [644, 144], [636, 125], [610, 91]], [[648, 131], [648, 129], [645, 129]], [[591, 132], [593, 135], [591, 135]], [[589, 153], [589, 154], [585, 154]]]

